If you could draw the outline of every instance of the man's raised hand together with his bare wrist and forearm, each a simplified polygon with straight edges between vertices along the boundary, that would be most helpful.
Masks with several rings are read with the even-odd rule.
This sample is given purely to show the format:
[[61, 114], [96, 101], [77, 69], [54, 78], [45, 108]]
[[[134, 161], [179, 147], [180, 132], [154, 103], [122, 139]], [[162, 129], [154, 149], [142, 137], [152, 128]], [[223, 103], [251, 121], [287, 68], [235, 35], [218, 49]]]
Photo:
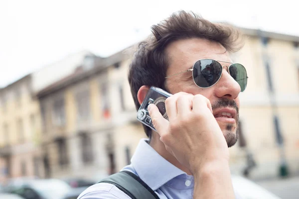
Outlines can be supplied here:
[[165, 107], [169, 121], [154, 104], [149, 115], [166, 150], [193, 174], [194, 198], [233, 198], [228, 147], [210, 101], [180, 92], [167, 98]]

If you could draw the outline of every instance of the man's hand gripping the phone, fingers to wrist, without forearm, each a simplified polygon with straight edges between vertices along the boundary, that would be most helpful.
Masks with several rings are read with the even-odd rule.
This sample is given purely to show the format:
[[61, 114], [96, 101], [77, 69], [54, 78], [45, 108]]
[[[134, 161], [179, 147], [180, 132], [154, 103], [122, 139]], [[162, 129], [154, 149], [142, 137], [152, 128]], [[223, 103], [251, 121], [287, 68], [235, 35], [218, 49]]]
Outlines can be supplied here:
[[149, 105], [153, 126], [166, 150], [192, 174], [204, 164], [228, 161], [227, 143], [207, 98], [180, 92], [167, 98], [165, 107], [169, 121]]

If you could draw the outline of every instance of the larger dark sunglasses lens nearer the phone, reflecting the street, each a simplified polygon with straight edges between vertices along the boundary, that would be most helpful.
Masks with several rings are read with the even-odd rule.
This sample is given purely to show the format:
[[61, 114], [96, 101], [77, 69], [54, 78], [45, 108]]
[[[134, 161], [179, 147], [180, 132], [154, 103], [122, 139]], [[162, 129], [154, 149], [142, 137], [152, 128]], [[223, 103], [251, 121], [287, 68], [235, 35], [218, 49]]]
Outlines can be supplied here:
[[215, 60], [198, 60], [193, 66], [193, 80], [201, 88], [208, 88], [216, 84], [221, 73], [222, 66]]

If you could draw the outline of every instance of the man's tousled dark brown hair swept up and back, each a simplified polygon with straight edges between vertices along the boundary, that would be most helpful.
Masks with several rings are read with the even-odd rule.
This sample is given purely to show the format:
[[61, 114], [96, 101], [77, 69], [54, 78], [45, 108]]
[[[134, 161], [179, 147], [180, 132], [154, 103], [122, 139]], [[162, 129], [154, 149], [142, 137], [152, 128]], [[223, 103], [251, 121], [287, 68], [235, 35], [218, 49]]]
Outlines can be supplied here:
[[[151, 27], [152, 34], [139, 43], [129, 70], [131, 93], [137, 110], [140, 104], [137, 93], [143, 85], [163, 90], [168, 67], [164, 53], [173, 41], [187, 38], [202, 38], [220, 43], [227, 51], [236, 52], [242, 47], [240, 32], [225, 23], [212, 23], [193, 12], [178, 11]], [[151, 129], [144, 125], [150, 138]]]

